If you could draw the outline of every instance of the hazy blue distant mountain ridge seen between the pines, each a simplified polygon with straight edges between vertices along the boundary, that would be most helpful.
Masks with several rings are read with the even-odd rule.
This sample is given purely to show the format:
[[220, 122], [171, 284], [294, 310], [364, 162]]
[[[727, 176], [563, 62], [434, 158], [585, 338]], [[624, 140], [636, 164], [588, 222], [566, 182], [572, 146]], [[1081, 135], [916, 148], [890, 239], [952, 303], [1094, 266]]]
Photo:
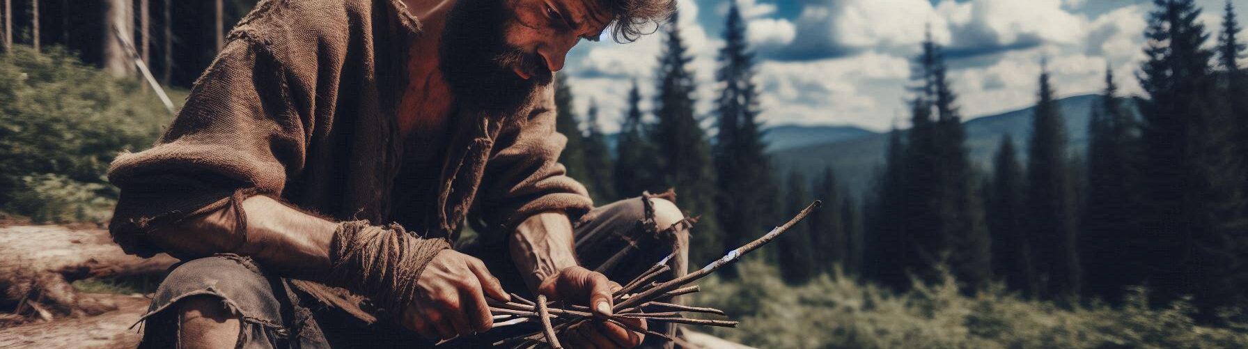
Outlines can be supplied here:
[[[1097, 95], [1085, 95], [1057, 101], [1062, 116], [1066, 118], [1066, 135], [1072, 155], [1082, 157], [1087, 150], [1088, 120], [1092, 105], [1097, 98], [1099, 98]], [[1131, 102], [1127, 105], [1133, 106]], [[1005, 135], [1013, 138], [1015, 148], [1020, 151], [1020, 160], [1026, 161], [1032, 110], [1028, 107], [967, 121], [965, 123], [966, 147], [971, 152], [975, 166], [980, 170], [991, 168], [992, 156]], [[861, 199], [862, 193], [872, 188], [877, 171], [884, 166], [887, 146], [889, 135], [875, 133], [791, 148], [776, 148], [771, 155], [774, 166], [781, 176], [797, 171], [806, 178], [814, 178], [814, 176], [822, 173], [824, 168], [831, 167], [841, 186], [846, 186], [855, 193], [856, 198]]]

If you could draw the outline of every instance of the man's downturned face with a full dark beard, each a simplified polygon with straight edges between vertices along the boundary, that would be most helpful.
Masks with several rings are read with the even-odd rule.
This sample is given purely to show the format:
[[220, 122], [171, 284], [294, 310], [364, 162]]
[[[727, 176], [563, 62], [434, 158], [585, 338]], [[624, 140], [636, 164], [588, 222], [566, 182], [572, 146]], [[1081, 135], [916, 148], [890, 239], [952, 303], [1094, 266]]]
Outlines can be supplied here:
[[548, 85], [580, 40], [610, 22], [600, 0], [458, 0], [442, 36], [441, 67], [461, 102], [508, 111]]

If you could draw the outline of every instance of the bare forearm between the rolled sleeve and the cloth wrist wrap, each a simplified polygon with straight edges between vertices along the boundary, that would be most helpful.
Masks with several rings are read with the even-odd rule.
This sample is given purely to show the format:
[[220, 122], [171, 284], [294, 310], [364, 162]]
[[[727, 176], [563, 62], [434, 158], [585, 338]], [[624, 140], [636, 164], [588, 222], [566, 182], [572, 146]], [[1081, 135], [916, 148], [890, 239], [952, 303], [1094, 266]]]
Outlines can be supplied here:
[[213, 253], [247, 256], [278, 274], [316, 280], [329, 270], [329, 243], [338, 224], [256, 196], [242, 202], [247, 232], [236, 232], [237, 213], [222, 208], [151, 232], [175, 257]]

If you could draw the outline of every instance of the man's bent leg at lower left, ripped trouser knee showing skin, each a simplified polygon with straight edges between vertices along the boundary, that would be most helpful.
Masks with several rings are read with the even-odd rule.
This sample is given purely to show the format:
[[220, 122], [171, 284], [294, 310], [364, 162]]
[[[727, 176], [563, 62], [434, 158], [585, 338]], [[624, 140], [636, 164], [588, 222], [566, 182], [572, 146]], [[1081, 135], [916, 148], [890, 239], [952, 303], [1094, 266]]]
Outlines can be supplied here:
[[285, 282], [265, 275], [248, 258], [190, 261], [156, 290], [142, 318], [140, 348], [285, 348], [290, 299]]

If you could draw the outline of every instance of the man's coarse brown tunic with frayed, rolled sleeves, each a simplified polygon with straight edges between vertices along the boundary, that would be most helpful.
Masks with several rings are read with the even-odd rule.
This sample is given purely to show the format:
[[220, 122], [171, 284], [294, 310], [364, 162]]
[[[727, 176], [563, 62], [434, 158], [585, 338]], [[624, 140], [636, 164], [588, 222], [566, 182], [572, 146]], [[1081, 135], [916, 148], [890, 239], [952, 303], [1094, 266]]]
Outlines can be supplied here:
[[422, 151], [404, 150], [396, 117], [414, 35], [399, 0], [261, 1], [156, 146], [112, 162], [114, 239], [151, 256], [151, 229], [256, 194], [452, 239], [469, 209], [508, 232], [593, 207], [558, 163], [550, 86], [513, 115], [456, 106], [438, 157], [402, 161]]

